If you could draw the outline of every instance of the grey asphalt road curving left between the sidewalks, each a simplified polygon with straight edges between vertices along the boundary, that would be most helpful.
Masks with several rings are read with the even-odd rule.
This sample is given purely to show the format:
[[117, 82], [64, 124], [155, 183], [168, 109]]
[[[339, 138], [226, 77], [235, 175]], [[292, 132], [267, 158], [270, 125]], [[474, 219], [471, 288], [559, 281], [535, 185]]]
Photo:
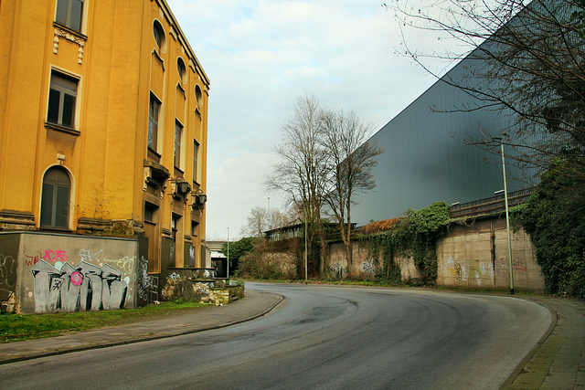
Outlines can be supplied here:
[[527, 300], [436, 290], [247, 283], [260, 319], [0, 366], [0, 388], [499, 388], [547, 331]]

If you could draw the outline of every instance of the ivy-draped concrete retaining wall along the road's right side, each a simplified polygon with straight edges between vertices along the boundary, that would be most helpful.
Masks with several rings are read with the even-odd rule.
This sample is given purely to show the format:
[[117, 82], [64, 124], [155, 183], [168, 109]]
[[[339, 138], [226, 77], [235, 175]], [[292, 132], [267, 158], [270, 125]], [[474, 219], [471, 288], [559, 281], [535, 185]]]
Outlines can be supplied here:
[[[354, 242], [353, 277], [397, 284], [410, 281], [466, 289], [507, 290], [510, 287], [505, 216], [464, 223], [451, 221], [445, 225], [444, 232], [436, 237], [434, 245], [431, 241], [425, 250], [420, 250], [418, 256], [426, 261], [420, 261], [419, 267], [416, 265], [417, 252], [406, 246], [400, 247], [393, 241], [400, 234], [378, 233]], [[324, 277], [347, 278], [345, 257], [343, 244], [331, 244], [328, 267], [325, 268], [327, 275]], [[420, 269], [421, 266], [431, 269], [431, 272], [436, 269], [436, 277], [422, 279], [421, 270], [424, 272], [425, 269]], [[535, 250], [522, 229], [512, 235], [512, 267], [515, 290], [545, 289]]]

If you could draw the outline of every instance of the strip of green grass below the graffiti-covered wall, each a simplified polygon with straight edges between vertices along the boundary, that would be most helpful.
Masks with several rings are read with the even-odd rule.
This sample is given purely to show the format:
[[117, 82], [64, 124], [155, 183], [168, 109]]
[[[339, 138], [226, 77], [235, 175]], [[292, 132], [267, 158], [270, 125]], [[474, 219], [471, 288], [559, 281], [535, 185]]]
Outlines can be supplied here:
[[115, 311], [79, 311], [48, 314], [0, 315], [0, 343], [58, 336], [67, 332], [124, 325], [209, 307], [197, 302], [164, 302]]

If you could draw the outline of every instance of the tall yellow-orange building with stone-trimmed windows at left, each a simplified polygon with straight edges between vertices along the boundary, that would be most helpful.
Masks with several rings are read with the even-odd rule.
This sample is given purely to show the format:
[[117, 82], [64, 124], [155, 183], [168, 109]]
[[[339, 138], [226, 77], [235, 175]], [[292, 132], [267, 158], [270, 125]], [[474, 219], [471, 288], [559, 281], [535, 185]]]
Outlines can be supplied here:
[[2, 0], [0, 230], [208, 267], [209, 80], [165, 0]]

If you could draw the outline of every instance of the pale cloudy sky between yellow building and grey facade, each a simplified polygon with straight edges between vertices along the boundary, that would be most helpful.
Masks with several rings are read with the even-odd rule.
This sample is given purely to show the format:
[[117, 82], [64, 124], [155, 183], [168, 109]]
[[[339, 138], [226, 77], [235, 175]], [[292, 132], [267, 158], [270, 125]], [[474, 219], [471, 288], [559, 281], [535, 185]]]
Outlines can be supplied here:
[[[378, 130], [435, 79], [397, 54], [380, 0], [167, 0], [210, 79], [207, 241], [237, 240], [255, 206], [279, 208], [264, 177], [299, 96], [356, 111]], [[417, 47], [432, 47], [422, 31]], [[229, 227], [229, 229], [228, 229]]]

